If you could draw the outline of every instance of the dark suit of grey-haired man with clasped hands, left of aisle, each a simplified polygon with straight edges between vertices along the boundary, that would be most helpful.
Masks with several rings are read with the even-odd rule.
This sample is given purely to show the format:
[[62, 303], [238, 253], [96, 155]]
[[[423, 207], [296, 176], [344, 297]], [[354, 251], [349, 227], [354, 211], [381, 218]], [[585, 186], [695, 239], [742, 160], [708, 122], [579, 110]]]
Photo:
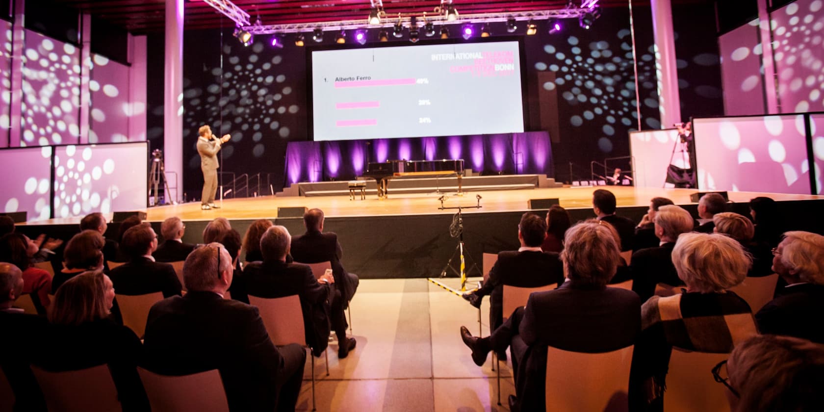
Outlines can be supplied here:
[[303, 311], [307, 344], [316, 356], [329, 344], [330, 285], [321, 284], [307, 265], [279, 260], [252, 262], [243, 269], [246, 293], [256, 297], [298, 295]]

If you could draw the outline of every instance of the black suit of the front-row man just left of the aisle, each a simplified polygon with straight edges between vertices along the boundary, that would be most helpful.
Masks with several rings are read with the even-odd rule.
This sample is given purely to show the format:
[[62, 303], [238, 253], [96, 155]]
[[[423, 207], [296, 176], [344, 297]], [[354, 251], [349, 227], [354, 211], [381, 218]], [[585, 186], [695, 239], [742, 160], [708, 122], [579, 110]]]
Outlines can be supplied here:
[[308, 231], [301, 236], [292, 238], [292, 258], [300, 263], [321, 263], [329, 260], [332, 263], [332, 275], [335, 276], [335, 288], [340, 291], [344, 302], [352, 300], [357, 283], [350, 279], [349, 274], [340, 264], [344, 250], [340, 247], [338, 235], [334, 232]]

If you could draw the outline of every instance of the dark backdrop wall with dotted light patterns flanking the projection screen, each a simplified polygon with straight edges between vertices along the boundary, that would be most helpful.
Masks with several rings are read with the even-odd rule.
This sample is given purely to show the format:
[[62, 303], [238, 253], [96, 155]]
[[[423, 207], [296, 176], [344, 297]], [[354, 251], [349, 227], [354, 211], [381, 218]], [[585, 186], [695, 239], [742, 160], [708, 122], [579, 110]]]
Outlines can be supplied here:
[[[709, 5], [675, 8], [682, 115], [722, 115], [714, 12]], [[658, 129], [658, 95], [649, 7], [634, 9], [641, 128]], [[628, 133], [637, 129], [630, 18], [625, 8], [605, 7], [590, 30], [567, 20], [550, 35], [539, 21], [538, 35], [526, 36], [527, 130], [547, 130], [555, 156], [555, 176], [588, 178], [589, 162], [629, 156]], [[231, 27], [231, 25], [228, 25]], [[522, 33], [525, 22], [519, 22]], [[452, 26], [454, 33], [460, 26]], [[503, 23], [493, 35], [507, 35]], [[376, 32], [369, 33], [377, 37]], [[331, 40], [326, 34], [325, 43]], [[272, 173], [283, 187], [286, 145], [307, 138], [308, 48], [287, 38], [283, 49], [267, 36], [242, 46], [232, 29], [190, 30], [184, 38], [184, 192], [199, 194], [203, 178], [195, 150], [197, 129], [232, 134], [222, 152], [222, 171], [236, 175]], [[410, 44], [400, 39], [398, 44]], [[307, 45], [311, 40], [307, 37]], [[367, 44], [368, 45], [368, 44]], [[410, 44], [411, 45], [411, 44]], [[162, 147], [163, 39], [149, 39], [148, 138]], [[491, 101], [491, 99], [490, 99]], [[494, 104], [494, 103], [490, 103]], [[224, 176], [224, 182], [228, 180]]]

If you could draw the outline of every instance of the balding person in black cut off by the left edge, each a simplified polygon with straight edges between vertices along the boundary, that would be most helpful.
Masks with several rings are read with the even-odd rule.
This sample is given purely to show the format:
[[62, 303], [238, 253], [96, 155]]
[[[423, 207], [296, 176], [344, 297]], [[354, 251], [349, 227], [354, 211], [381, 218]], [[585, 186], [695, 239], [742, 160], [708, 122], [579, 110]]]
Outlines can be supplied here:
[[44, 316], [29, 315], [22, 309], [12, 307], [23, 293], [23, 284], [22, 272], [16, 265], [0, 262], [0, 330], [3, 331], [0, 337], [0, 370], [14, 392], [12, 410], [45, 411], [40, 386], [29, 364], [44, 344], [47, 321]]

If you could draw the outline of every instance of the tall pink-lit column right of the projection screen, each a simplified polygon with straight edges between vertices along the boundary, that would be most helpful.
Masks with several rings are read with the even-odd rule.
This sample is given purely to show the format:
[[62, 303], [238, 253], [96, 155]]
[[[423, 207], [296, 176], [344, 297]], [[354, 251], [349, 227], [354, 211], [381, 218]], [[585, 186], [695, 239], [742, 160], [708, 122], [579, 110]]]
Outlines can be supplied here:
[[675, 35], [672, 30], [670, 0], [651, 0], [655, 39], [655, 75], [658, 77], [658, 111], [661, 129], [681, 122], [681, 98], [678, 96], [678, 73], [675, 59]]

